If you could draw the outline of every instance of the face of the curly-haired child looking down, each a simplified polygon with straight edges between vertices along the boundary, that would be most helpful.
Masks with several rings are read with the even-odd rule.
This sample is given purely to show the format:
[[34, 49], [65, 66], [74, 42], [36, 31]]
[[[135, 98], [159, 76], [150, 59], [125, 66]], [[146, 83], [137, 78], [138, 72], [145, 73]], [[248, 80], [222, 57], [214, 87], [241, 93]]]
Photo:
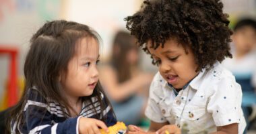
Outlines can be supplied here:
[[187, 82], [197, 76], [197, 64], [191, 49], [185, 49], [177, 40], [167, 40], [164, 48], [159, 46], [156, 50], [150, 48], [152, 42], [147, 42], [147, 48], [158, 64], [159, 72], [174, 88], [183, 88]]

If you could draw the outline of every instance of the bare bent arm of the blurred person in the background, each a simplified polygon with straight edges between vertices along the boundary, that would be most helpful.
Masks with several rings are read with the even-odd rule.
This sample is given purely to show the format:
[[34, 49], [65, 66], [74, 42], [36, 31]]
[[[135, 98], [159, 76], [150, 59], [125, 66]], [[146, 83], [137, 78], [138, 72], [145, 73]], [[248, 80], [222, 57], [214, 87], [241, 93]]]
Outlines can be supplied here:
[[151, 74], [139, 74], [125, 82], [119, 83], [117, 72], [110, 66], [104, 66], [101, 70], [101, 82], [108, 95], [115, 101], [121, 101], [144, 86], [149, 86], [152, 80]]

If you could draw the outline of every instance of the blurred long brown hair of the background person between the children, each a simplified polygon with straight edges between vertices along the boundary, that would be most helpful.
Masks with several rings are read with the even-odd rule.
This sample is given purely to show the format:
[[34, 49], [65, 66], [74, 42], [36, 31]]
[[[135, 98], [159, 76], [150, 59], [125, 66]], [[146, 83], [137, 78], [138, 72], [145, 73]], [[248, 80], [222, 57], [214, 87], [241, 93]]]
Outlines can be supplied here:
[[113, 41], [110, 64], [117, 70], [119, 82], [124, 82], [131, 78], [131, 65], [127, 61], [127, 54], [133, 49], [138, 50], [135, 45], [135, 38], [127, 31], [118, 31]]

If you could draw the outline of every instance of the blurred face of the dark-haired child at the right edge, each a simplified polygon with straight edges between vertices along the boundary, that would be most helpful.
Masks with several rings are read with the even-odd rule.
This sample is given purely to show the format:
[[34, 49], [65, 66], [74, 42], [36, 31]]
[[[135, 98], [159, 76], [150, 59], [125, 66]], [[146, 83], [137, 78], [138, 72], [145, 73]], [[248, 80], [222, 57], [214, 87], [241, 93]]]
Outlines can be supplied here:
[[256, 46], [256, 30], [253, 27], [245, 26], [234, 31], [232, 36], [236, 51], [246, 54]]

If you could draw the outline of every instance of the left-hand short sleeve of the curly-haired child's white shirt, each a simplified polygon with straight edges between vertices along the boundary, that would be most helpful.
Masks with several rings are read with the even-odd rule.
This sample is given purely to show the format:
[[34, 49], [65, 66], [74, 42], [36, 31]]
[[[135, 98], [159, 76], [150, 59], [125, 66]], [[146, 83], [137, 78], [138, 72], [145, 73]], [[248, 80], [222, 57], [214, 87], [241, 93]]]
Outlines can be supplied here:
[[155, 93], [156, 90], [160, 91], [160, 78], [159, 78], [159, 72], [154, 76], [154, 79], [152, 80], [152, 83], [150, 85], [150, 96], [148, 98], [148, 105], [146, 107], [145, 115], [150, 119], [151, 121], [154, 121], [156, 123], [164, 123], [167, 120], [162, 115], [161, 109], [158, 105], [160, 101], [160, 97], [157, 96]]

